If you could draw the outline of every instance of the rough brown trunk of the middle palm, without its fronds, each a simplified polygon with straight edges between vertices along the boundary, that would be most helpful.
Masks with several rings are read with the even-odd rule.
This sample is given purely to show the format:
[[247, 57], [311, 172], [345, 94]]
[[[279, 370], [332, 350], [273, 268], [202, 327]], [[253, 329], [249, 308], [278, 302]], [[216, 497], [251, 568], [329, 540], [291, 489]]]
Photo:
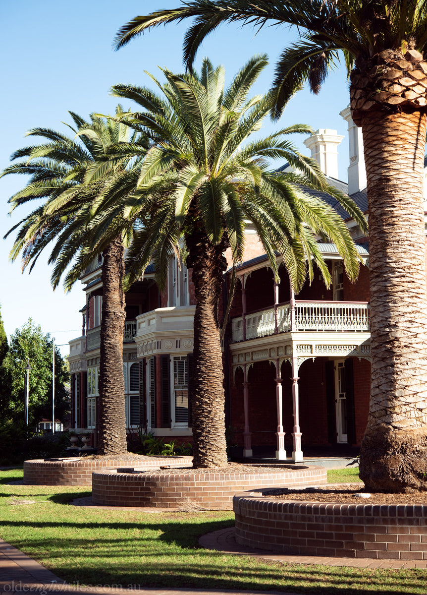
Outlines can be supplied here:
[[[197, 236], [194, 237], [194, 236]], [[187, 238], [196, 294], [194, 313], [193, 467], [227, 465], [225, 445], [224, 372], [219, 339], [219, 299], [227, 263], [223, 246], [213, 246], [204, 234]]]

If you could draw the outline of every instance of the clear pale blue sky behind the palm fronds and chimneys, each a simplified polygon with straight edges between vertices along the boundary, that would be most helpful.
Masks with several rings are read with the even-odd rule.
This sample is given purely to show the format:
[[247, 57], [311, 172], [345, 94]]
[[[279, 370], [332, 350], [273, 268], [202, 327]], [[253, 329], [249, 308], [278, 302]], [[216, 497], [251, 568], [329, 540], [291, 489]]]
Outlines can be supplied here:
[[[160, 8], [176, 7], [179, 0], [20, 0], [2, 2], [0, 6], [0, 52], [2, 92], [0, 106], [3, 117], [0, 141], [0, 169], [10, 163], [16, 149], [30, 144], [25, 133], [32, 127], [50, 127], [67, 131], [63, 122], [70, 122], [68, 110], [87, 117], [90, 112], [113, 113], [117, 99], [109, 89], [117, 83], [142, 86], [152, 84], [144, 71], [161, 76], [158, 66], [175, 72], [183, 71], [182, 42], [189, 23], [159, 27], [140, 36], [115, 52], [112, 40], [121, 25], [139, 14]], [[255, 54], [266, 53], [269, 66], [260, 77], [255, 93], [269, 89], [274, 64], [281, 49], [292, 42], [294, 34], [287, 27], [265, 27], [254, 35], [250, 27], [222, 26], [203, 44], [196, 67], [204, 56], [216, 64], [224, 64], [227, 78]], [[320, 95], [303, 90], [290, 102], [279, 124], [265, 122], [268, 134], [277, 126], [309, 124], [313, 129], [330, 128], [346, 134], [347, 126], [339, 112], [348, 104], [348, 84], [344, 67], [332, 73]], [[131, 104], [125, 105], [131, 107]], [[307, 152], [303, 137], [297, 145]], [[34, 142], [34, 139], [33, 139]], [[340, 146], [338, 168], [346, 180], [348, 146]], [[20, 190], [26, 180], [22, 176], [6, 176], [0, 180], [0, 233], [21, 220], [28, 212], [22, 207], [12, 217], [7, 201]], [[40, 257], [33, 272], [21, 274], [20, 263], [8, 262], [12, 239], [1, 240], [0, 306], [6, 333], [10, 336], [29, 317], [51, 333], [68, 353], [67, 343], [80, 336], [84, 293], [78, 283], [67, 295], [61, 287], [52, 291], [51, 268]]]

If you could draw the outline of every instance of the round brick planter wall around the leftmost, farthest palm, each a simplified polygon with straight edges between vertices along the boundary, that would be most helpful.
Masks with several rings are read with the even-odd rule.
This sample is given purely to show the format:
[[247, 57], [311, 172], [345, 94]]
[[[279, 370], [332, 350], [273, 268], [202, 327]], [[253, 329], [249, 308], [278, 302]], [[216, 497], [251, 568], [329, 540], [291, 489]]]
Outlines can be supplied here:
[[121, 461], [111, 459], [59, 459], [45, 461], [34, 459], [24, 462], [24, 484], [37, 486], [90, 486], [93, 471], [139, 466], [146, 469], [159, 469], [162, 465], [182, 467], [191, 465], [191, 456], [147, 456]]

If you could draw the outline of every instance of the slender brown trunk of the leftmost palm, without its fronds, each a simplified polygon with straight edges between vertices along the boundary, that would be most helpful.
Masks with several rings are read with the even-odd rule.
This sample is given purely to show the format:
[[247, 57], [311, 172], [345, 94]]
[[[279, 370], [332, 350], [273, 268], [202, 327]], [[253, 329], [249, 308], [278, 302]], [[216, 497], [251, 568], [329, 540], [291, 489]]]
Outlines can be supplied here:
[[121, 238], [117, 237], [102, 256], [98, 454], [121, 455], [127, 452], [123, 377], [125, 299], [121, 287], [124, 248]]

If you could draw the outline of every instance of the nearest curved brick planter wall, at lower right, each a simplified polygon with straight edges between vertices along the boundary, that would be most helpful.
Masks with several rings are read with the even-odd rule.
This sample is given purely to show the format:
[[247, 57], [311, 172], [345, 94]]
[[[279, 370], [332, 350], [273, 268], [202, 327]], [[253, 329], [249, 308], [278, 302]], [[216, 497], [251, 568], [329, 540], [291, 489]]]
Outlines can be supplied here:
[[234, 496], [241, 545], [310, 556], [427, 559], [427, 505], [290, 502], [260, 492]]

